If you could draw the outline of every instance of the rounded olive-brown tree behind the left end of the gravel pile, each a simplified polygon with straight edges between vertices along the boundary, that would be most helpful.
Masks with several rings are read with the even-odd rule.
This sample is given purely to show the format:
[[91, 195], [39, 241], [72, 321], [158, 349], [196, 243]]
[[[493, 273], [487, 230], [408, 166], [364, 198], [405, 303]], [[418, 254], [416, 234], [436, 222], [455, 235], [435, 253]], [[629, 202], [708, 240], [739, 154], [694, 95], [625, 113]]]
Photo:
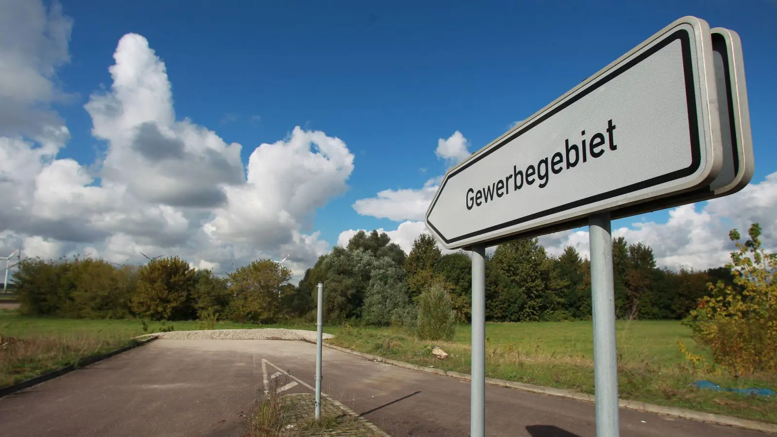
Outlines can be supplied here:
[[151, 320], [193, 320], [194, 271], [179, 257], [148, 261], [138, 270], [132, 311]]

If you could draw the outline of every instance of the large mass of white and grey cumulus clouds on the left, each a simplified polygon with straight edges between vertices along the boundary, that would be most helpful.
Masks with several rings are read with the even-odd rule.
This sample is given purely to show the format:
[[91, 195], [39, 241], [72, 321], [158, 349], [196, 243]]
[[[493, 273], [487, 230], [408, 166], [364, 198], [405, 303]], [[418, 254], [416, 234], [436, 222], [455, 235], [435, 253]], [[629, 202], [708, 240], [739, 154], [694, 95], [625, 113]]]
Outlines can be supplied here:
[[242, 145], [176, 117], [166, 65], [136, 33], [120, 38], [110, 86], [85, 104], [105, 150], [93, 163], [58, 158], [69, 135], [51, 103], [67, 96], [56, 71], [70, 32], [58, 5], [0, 3], [0, 251], [178, 255], [220, 272], [291, 253], [284, 265], [297, 276], [328, 251], [312, 224], [347, 191], [347, 145], [297, 127], [243, 163]]

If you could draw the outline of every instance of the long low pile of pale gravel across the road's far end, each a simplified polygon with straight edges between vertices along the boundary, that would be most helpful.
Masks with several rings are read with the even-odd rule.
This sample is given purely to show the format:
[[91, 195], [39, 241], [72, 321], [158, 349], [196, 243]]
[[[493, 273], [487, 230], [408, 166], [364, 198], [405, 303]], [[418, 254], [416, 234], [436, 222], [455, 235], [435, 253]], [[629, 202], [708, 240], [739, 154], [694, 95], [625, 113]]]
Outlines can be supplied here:
[[[151, 336], [165, 340], [307, 340], [315, 343], [315, 330], [283, 328], [173, 330], [145, 334], [138, 338]], [[324, 340], [332, 337], [332, 334], [323, 334]]]

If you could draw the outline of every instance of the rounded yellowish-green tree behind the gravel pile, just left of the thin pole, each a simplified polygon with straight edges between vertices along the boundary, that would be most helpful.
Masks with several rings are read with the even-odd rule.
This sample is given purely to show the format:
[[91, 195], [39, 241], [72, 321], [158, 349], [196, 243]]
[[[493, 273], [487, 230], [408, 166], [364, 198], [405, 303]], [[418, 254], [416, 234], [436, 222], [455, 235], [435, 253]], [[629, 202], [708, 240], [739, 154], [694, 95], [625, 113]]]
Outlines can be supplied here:
[[274, 260], [255, 260], [229, 274], [233, 317], [239, 322], [274, 323], [282, 311], [280, 300], [289, 292], [291, 270]]

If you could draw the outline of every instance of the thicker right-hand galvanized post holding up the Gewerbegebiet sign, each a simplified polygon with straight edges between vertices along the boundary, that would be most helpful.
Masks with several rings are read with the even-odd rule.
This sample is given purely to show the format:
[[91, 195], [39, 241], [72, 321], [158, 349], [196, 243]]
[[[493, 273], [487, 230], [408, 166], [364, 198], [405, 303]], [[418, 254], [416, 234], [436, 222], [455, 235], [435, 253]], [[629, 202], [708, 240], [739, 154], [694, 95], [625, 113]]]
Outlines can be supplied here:
[[588, 218], [591, 245], [591, 306], [594, 311], [594, 391], [597, 437], [618, 437], [618, 356], [615, 281], [608, 212]]

